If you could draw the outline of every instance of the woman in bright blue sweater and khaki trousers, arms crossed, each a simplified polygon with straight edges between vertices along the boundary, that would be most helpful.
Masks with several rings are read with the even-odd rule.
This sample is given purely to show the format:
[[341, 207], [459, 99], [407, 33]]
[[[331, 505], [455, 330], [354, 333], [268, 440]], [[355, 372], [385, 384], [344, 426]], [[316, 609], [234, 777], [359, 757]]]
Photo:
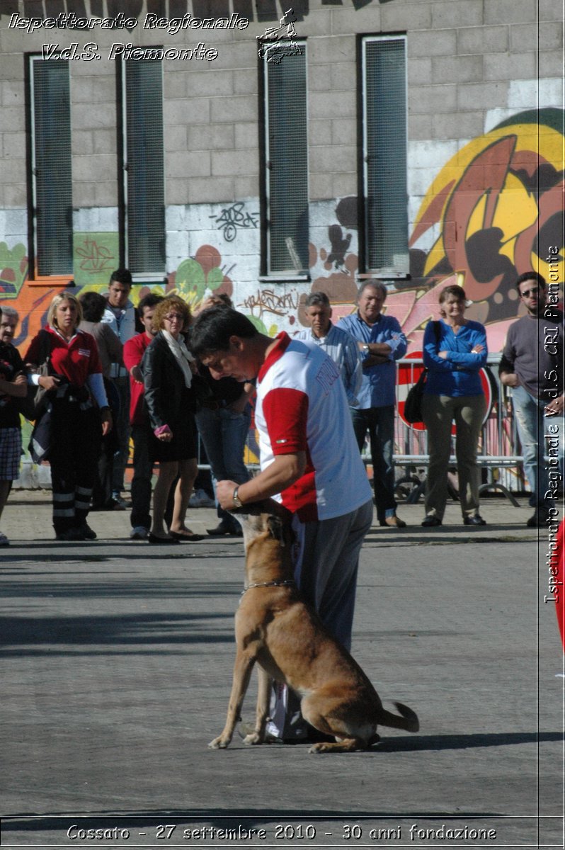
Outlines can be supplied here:
[[487, 336], [483, 325], [466, 320], [465, 308], [461, 287], [446, 286], [439, 296], [442, 320], [428, 322], [424, 331], [424, 365], [428, 373], [422, 414], [430, 456], [426, 518], [422, 523], [425, 527], [441, 525], [444, 519], [454, 420], [463, 522], [486, 524], [478, 513], [477, 444], [486, 407], [479, 370], [487, 361]]

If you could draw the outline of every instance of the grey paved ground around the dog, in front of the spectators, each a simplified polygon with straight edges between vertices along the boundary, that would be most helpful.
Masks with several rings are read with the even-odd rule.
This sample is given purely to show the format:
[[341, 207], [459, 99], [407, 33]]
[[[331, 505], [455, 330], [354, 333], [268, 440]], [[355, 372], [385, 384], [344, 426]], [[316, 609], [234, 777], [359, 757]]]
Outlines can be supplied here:
[[[211, 751], [241, 541], [150, 547], [128, 541], [128, 513], [93, 513], [99, 541], [57, 543], [48, 494], [15, 491], [0, 550], [2, 847], [562, 847], [547, 534], [502, 498], [478, 530], [455, 505], [440, 529], [421, 529], [421, 505], [398, 513], [409, 529], [364, 544], [353, 654], [420, 733], [381, 729], [381, 745], [343, 755]], [[214, 519], [189, 513], [196, 531]]]

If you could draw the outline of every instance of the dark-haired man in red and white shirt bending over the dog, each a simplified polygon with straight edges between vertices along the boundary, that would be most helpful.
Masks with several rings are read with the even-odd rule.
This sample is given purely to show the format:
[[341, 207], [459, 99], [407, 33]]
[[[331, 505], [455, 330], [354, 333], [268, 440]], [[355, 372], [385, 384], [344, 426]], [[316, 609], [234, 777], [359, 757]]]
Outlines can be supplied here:
[[[349, 649], [359, 551], [373, 504], [336, 365], [321, 348], [285, 333], [267, 337], [224, 307], [201, 313], [190, 348], [213, 377], [257, 377], [261, 472], [245, 484], [219, 481], [218, 501], [229, 510], [272, 496], [294, 513], [297, 583]], [[288, 716], [277, 728], [284, 740], [300, 738]]]

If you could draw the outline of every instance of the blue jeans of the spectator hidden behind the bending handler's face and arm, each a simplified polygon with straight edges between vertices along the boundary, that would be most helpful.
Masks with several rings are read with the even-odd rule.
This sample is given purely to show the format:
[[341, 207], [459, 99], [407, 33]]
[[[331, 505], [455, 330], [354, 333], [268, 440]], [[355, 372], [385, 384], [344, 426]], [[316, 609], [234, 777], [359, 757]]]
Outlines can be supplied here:
[[[249, 480], [243, 452], [250, 424], [250, 405], [246, 405], [243, 413], [234, 413], [227, 407], [220, 407], [217, 411], [203, 407], [196, 413], [196, 425], [212, 467], [214, 490], [217, 481], [227, 479], [237, 484], [245, 484]], [[239, 530], [240, 524], [237, 520], [219, 505], [218, 517], [234, 530]]]

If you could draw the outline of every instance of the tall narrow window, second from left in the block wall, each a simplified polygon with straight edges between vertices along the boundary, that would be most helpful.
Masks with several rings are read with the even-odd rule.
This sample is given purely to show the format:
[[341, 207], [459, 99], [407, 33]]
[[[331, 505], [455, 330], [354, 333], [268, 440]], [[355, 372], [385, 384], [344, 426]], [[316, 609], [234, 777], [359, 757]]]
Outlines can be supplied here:
[[162, 62], [125, 60], [122, 67], [124, 262], [138, 278], [165, 273], [165, 174]]

